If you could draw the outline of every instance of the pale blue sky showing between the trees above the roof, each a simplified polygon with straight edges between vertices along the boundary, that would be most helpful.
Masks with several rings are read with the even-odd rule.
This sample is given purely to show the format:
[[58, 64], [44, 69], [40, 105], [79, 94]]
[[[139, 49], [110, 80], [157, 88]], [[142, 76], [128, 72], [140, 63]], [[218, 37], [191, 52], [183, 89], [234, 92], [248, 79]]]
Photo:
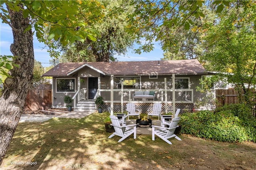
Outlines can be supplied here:
[[[0, 23], [0, 55], [12, 55], [10, 52], [10, 45], [13, 43], [12, 29], [6, 23]], [[158, 45], [154, 43], [154, 50], [150, 53], [141, 53], [140, 55], [132, 53], [132, 49], [124, 56], [115, 56], [118, 61], [157, 61], [163, 58], [163, 51]], [[51, 59], [49, 53], [44, 47], [43, 43], [39, 43], [34, 36], [34, 56], [36, 61], [40, 61], [42, 66], [50, 66]], [[136, 45], [134, 46], [136, 47]]]

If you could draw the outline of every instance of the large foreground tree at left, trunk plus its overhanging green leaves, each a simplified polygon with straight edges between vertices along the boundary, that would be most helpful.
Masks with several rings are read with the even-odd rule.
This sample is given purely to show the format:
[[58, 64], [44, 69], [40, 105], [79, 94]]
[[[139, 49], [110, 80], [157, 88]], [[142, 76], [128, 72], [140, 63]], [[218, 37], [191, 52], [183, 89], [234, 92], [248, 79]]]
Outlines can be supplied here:
[[[14, 43], [10, 49], [14, 55], [13, 68], [9, 68], [9, 77], [4, 81], [4, 91], [0, 98], [0, 163], [4, 158], [24, 104], [30, 86], [34, 67], [33, 33], [44, 41], [44, 27], [50, 25], [48, 40], [59, 39], [62, 44], [95, 40], [96, 32], [88, 25], [98, 20], [101, 4], [98, 1], [1, 1], [1, 19], [12, 27]], [[25, 8], [24, 8], [25, 7]], [[88, 18], [80, 22], [79, 17]], [[80, 27], [80, 29], [78, 29]], [[4, 64], [2, 64], [4, 63]], [[8, 65], [8, 63], [7, 63]]]

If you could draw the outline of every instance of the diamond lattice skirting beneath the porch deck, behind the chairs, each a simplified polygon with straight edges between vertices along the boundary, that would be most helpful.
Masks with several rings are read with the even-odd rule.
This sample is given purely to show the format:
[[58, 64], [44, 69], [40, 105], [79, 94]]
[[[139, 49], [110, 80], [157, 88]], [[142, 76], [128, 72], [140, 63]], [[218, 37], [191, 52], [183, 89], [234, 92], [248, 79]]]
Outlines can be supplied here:
[[[108, 107], [110, 107], [110, 103], [104, 104], [102, 106], [103, 111], [108, 111]], [[194, 104], [184, 104], [184, 103], [176, 103], [175, 108], [176, 110], [180, 108], [180, 113], [184, 113], [186, 111], [192, 112]], [[141, 113], [147, 113], [147, 110], [153, 109], [153, 104], [145, 103], [145, 104], [135, 104], [135, 109], [139, 109]], [[121, 112], [121, 104], [114, 103], [114, 112]], [[126, 112], [126, 103], [124, 103], [124, 112]], [[167, 112], [172, 113], [172, 104], [167, 104]], [[162, 111], [161, 113], [165, 113], [165, 104], [162, 104]]]

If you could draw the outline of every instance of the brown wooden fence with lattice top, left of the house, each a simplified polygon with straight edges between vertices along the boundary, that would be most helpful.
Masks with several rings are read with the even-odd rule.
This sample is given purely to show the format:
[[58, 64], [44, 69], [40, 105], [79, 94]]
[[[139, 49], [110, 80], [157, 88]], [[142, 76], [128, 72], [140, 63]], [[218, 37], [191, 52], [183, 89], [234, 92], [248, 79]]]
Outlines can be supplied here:
[[47, 110], [52, 107], [52, 85], [40, 84], [32, 86], [26, 97], [25, 110]]

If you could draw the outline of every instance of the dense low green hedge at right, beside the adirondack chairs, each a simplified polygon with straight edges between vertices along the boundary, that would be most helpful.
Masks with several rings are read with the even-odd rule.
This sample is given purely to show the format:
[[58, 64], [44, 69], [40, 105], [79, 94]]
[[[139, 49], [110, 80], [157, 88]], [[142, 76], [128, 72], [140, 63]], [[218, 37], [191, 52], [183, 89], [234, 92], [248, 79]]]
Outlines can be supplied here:
[[182, 133], [221, 142], [256, 142], [256, 118], [244, 104], [232, 104], [215, 112], [183, 113]]

